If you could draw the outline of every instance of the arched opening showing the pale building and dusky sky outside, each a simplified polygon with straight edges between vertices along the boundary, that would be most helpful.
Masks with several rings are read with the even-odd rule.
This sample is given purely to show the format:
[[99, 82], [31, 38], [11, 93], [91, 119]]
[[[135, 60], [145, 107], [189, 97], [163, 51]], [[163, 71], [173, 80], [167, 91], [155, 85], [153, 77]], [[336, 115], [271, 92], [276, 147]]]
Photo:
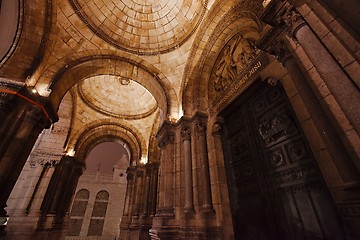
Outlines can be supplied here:
[[[119, 235], [129, 159], [130, 150], [121, 140], [101, 142], [91, 149], [71, 207], [68, 239], [74, 236], [109, 239]], [[78, 194], [82, 190], [88, 191], [89, 196], [86, 206], [81, 206], [83, 211], [79, 216], [78, 205], [81, 199], [78, 199]], [[85, 201], [81, 203], [84, 204]]]

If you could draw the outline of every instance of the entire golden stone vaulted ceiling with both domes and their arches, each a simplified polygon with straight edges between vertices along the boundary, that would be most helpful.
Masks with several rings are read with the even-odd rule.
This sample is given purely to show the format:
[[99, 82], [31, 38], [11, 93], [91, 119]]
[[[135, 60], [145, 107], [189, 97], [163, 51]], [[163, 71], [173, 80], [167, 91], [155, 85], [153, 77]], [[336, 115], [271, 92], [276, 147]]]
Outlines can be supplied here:
[[[187, 92], [206, 95], [196, 84], [207, 80], [193, 72], [211, 72], [238, 25], [252, 28], [246, 19], [255, 16], [251, 11], [257, 12], [261, 2], [19, 1], [20, 19], [30, 17], [23, 17], [18, 48], [28, 55], [9, 58], [2, 71], [19, 79], [25, 76], [26, 84], [48, 96], [54, 109], [71, 93], [66, 151], [78, 150], [79, 141], [86, 142], [84, 136], [95, 141], [101, 134], [121, 132], [131, 135], [141, 149], [138, 156], [146, 158], [165, 119], [178, 120], [184, 107], [191, 115], [188, 106], [206, 102], [186, 93], [192, 89]], [[239, 9], [244, 11], [237, 15]], [[22, 72], [20, 64], [25, 66]], [[92, 129], [99, 133], [91, 135]]]

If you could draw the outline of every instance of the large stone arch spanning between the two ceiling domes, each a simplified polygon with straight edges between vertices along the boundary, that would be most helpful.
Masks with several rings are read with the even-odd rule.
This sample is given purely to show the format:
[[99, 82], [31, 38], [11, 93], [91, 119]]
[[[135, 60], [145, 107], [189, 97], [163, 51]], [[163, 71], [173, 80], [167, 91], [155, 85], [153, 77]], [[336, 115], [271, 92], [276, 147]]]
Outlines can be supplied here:
[[[65, 93], [81, 80], [97, 75], [126, 77], [141, 84], [154, 96], [162, 112], [162, 120], [176, 116], [179, 103], [176, 93], [165, 75], [139, 57], [129, 54], [122, 55], [83, 53], [82, 57], [69, 63], [59, 60], [60, 63], [64, 62], [61, 63], [64, 65], [49, 67], [49, 70], [43, 72], [39, 77], [36, 86], [39, 86], [38, 88], [47, 86], [45, 88], [51, 92], [49, 96], [51, 105], [57, 109]], [[54, 69], [56, 70], [54, 71]], [[52, 79], [47, 79], [51, 72]]]

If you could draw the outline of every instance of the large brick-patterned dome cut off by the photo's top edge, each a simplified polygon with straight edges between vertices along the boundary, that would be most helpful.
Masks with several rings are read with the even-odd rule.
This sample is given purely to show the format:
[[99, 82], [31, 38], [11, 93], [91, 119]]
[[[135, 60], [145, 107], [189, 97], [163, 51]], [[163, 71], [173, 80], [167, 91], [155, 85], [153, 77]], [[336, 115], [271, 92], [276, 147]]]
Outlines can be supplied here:
[[207, 0], [69, 0], [75, 12], [107, 43], [137, 54], [179, 47], [195, 32]]

